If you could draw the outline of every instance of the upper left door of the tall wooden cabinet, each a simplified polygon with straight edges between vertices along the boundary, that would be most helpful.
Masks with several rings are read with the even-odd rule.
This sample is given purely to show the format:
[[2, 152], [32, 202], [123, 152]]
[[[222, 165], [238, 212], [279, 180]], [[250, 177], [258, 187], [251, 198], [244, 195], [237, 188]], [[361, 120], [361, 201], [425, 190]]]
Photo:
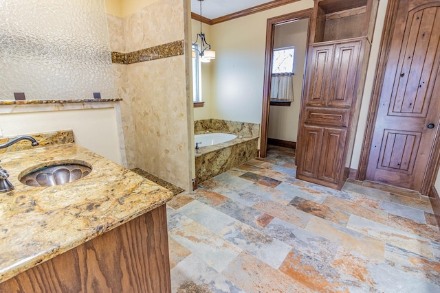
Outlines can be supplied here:
[[325, 106], [325, 97], [330, 90], [333, 45], [312, 45], [309, 47], [309, 52], [306, 104]]

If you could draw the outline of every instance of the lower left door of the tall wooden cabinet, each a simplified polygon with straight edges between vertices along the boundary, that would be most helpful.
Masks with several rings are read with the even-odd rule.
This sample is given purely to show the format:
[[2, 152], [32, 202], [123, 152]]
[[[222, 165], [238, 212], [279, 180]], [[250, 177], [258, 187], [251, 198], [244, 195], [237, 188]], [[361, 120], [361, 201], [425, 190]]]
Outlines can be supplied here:
[[301, 155], [300, 161], [298, 162], [298, 174], [311, 178], [318, 176], [323, 130], [324, 128], [322, 127], [303, 126], [300, 137]]

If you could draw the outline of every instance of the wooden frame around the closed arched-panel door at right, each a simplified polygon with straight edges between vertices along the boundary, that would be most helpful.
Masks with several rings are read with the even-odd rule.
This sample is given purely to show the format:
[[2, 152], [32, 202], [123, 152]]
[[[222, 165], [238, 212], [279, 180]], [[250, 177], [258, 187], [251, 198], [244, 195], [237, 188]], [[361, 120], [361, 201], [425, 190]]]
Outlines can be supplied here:
[[[365, 180], [366, 169], [369, 163], [369, 156], [371, 150], [371, 143], [373, 141], [373, 132], [376, 124], [377, 109], [380, 103], [380, 93], [382, 92], [382, 84], [385, 75], [386, 62], [390, 54], [391, 37], [393, 34], [393, 27], [397, 18], [397, 8], [399, 6], [399, 0], [389, 0], [388, 7], [386, 8], [386, 16], [384, 21], [384, 30], [382, 32], [382, 40], [380, 43], [379, 60], [377, 62], [375, 81], [373, 84], [373, 93], [371, 96], [371, 102], [369, 106], [369, 114], [366, 119], [366, 129], [364, 134], [364, 143], [362, 143], [362, 150], [360, 156], [360, 162], [358, 166], [358, 180]], [[434, 186], [437, 173], [439, 172], [440, 165], [440, 131], [434, 137], [433, 148], [430, 152], [428, 159], [428, 166], [423, 180], [423, 185], [419, 191], [421, 194], [426, 195], [430, 192], [430, 188]]]

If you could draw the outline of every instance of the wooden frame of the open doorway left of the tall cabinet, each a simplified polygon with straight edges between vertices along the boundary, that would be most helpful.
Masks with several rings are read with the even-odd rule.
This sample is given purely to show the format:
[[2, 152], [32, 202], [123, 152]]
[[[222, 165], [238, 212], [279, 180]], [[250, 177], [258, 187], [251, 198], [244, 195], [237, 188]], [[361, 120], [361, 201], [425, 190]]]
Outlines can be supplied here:
[[[271, 19], [267, 19], [266, 29], [266, 55], [265, 55], [265, 67], [264, 67], [264, 86], [263, 86], [263, 111], [261, 113], [261, 137], [260, 137], [260, 157], [265, 158], [267, 153], [267, 135], [269, 132], [269, 108], [270, 108], [270, 77], [272, 71], [272, 51], [274, 50], [274, 33], [275, 26], [285, 23], [292, 23], [301, 19], [309, 18], [309, 25], [307, 28], [307, 43], [309, 46], [309, 34], [311, 25], [311, 16], [313, 8], [306, 10], [300, 10], [298, 12], [292, 12], [281, 16], [275, 16]], [[307, 52], [307, 49], [306, 49]], [[306, 53], [307, 63], [307, 53]], [[303, 80], [304, 88], [304, 80]], [[303, 104], [303, 95], [301, 95], [301, 105]]]

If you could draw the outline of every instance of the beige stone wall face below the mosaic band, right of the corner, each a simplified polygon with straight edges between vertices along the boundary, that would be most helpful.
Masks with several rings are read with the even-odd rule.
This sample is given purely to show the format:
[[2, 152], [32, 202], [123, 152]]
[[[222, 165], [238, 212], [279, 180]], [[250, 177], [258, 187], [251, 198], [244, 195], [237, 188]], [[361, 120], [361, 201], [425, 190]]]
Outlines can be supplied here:
[[159, 178], [188, 188], [189, 146], [185, 57], [129, 66], [136, 162]]

